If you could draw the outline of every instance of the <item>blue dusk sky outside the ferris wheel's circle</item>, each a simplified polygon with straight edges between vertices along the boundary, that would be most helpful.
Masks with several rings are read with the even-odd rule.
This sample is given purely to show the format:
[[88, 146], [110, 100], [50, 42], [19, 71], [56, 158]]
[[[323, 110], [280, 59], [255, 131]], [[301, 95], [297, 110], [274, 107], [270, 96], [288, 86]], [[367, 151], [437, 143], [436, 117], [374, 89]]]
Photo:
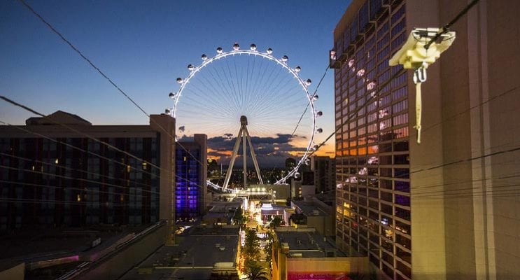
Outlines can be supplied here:
[[[335, 23], [350, 1], [28, 3], [146, 112], [162, 113], [172, 106], [167, 94], [178, 89], [175, 79], [188, 76], [188, 64], [199, 64], [202, 53], [215, 55], [218, 46], [231, 50], [234, 42], [243, 48], [250, 43], [259, 50], [273, 48], [276, 57], [288, 55], [291, 66], [302, 67], [300, 76], [313, 80], [309, 89], [314, 92], [328, 64]], [[2, 1], [0, 10], [2, 95], [45, 114], [75, 113], [95, 125], [148, 123], [22, 3]], [[318, 89], [316, 108], [323, 111], [318, 143], [334, 130], [332, 74], [330, 70]], [[0, 104], [5, 123], [23, 124], [29, 117], [27, 111]], [[272, 137], [283, 133], [273, 131]], [[333, 151], [330, 141], [323, 152]]]

